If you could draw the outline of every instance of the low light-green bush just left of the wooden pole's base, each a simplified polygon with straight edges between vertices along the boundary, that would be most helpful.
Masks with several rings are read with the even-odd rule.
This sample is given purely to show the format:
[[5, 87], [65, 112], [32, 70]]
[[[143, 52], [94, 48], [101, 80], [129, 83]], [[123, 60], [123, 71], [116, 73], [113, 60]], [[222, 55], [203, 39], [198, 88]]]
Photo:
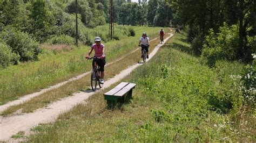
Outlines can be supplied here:
[[48, 44], [74, 44], [75, 39], [69, 35], [54, 35], [51, 39], [47, 40]]

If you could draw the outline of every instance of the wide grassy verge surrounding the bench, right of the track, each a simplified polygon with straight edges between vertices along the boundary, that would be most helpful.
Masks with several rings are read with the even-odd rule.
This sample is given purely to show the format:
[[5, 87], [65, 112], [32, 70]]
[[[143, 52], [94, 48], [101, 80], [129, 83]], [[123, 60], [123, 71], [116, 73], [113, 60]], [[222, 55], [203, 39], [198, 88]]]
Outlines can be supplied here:
[[[107, 110], [103, 93], [110, 87], [91, 96], [86, 105], [63, 113], [54, 123], [38, 126], [40, 130], [35, 128], [28, 141], [255, 142], [255, 116], [247, 120], [250, 127], [240, 128], [230, 119], [226, 101], [221, 100], [226, 96], [223, 93], [234, 90], [225, 77], [239, 73], [242, 65], [229, 63], [238, 66], [234, 71], [201, 65], [197, 57], [179, 49], [189, 48], [181, 41], [183, 37], [176, 35], [156, 58], [123, 80], [137, 83], [129, 103]], [[177, 42], [180, 46], [172, 48]]]

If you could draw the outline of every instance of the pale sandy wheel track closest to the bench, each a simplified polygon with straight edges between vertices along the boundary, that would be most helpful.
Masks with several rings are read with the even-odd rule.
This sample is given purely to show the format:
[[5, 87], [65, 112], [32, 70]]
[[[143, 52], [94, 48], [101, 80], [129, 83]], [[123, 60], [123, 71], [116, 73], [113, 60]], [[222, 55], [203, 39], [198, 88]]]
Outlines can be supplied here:
[[[170, 36], [167, 37], [165, 41], [173, 36], [172, 33], [169, 34]], [[163, 45], [164, 43], [158, 44], [150, 53], [148, 60], [150, 60]], [[137, 63], [136, 65], [120, 71], [118, 75], [104, 82], [104, 88], [110, 87], [113, 83], [122, 80], [122, 78], [129, 75], [132, 70], [141, 65], [143, 64]], [[51, 103], [47, 108], [38, 109], [32, 113], [24, 113], [22, 115], [5, 118], [0, 117], [0, 141], [15, 141], [14, 139], [11, 139], [11, 135], [17, 134], [19, 131], [24, 131], [25, 134], [28, 135], [30, 133], [30, 128], [37, 126], [39, 123], [49, 123], [54, 121], [60, 113], [72, 109], [76, 104], [84, 103], [84, 100], [93, 94], [95, 94], [95, 92], [92, 91], [76, 92], [73, 96], [63, 98], [60, 101]]]

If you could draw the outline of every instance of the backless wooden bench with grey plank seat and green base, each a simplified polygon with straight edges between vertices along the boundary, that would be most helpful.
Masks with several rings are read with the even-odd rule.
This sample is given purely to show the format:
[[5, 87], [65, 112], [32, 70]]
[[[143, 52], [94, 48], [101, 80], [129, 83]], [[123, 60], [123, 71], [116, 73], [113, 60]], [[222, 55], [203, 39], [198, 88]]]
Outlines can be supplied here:
[[104, 94], [104, 99], [107, 100], [107, 106], [112, 108], [117, 102], [124, 103], [124, 97], [132, 98], [132, 89], [135, 88], [135, 83], [122, 82], [110, 91]]

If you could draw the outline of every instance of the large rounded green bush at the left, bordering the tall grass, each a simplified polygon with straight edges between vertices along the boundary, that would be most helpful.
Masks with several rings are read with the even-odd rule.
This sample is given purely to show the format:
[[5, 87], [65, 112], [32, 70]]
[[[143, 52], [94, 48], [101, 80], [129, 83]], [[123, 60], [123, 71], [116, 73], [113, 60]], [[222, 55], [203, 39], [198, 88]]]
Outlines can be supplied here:
[[23, 33], [8, 27], [0, 34], [12, 52], [17, 53], [20, 61], [37, 60], [41, 48], [38, 42], [32, 39], [28, 33]]

